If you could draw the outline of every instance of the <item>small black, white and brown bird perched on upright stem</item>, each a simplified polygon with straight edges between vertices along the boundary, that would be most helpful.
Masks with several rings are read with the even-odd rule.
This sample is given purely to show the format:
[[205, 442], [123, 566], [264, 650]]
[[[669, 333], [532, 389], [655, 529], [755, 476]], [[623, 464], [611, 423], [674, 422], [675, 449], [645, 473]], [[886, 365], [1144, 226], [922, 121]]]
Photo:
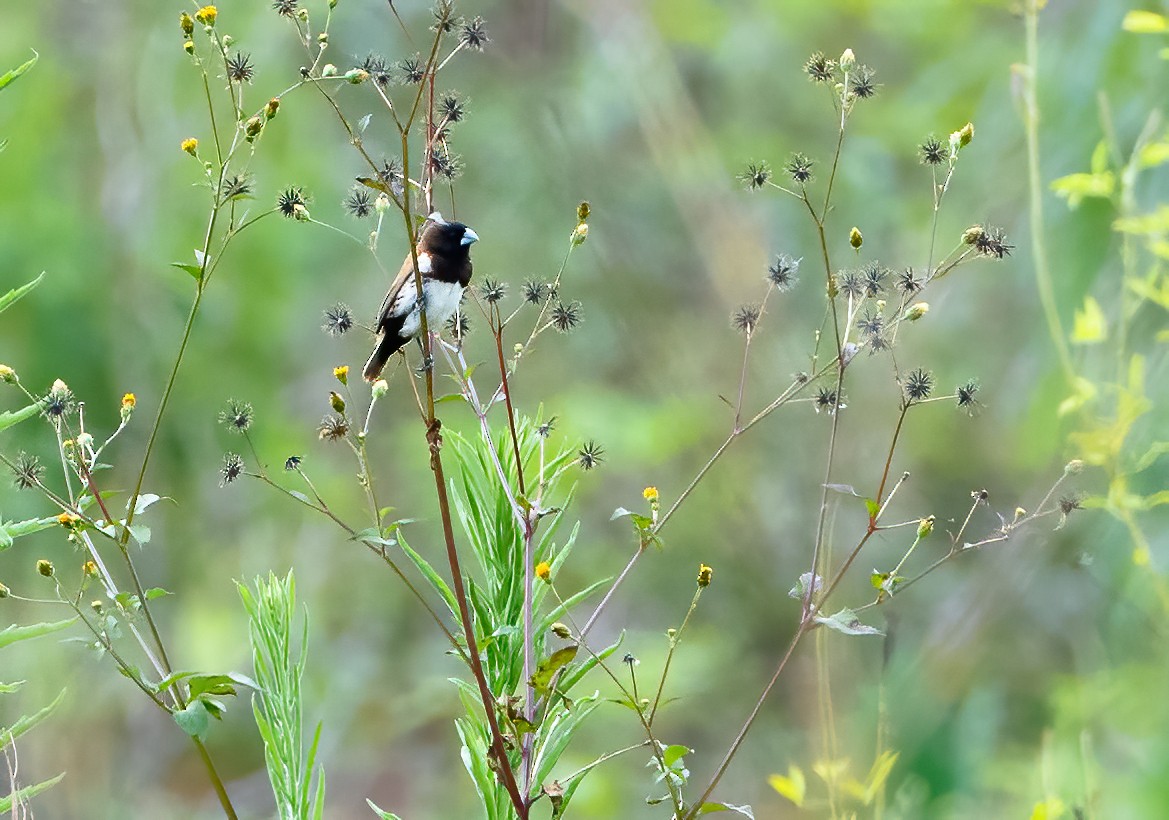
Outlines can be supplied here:
[[[458, 308], [471, 281], [471, 244], [478, 234], [462, 222], [448, 222], [433, 213], [419, 237], [419, 273], [427, 324], [438, 330]], [[376, 381], [389, 357], [422, 332], [422, 309], [414, 280], [414, 261], [402, 262], [374, 323], [376, 346], [365, 366], [366, 381]]]

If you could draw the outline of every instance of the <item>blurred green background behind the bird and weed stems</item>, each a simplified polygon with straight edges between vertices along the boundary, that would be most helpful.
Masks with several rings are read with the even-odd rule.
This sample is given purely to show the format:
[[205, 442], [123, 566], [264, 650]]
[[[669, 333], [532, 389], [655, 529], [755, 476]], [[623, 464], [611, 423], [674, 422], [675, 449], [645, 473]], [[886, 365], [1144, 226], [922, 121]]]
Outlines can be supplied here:
[[[428, 7], [396, 6], [421, 43]], [[1101, 133], [1098, 95], [1107, 96], [1122, 145], [1163, 103], [1164, 39], [1123, 33], [1128, 6], [1070, 0], [1040, 16], [1045, 184], [1086, 170]], [[323, 2], [307, 7], [323, 14]], [[48, 271], [0, 317], [0, 361], [33, 390], [64, 379], [87, 402], [94, 429], [116, 425], [124, 392], [138, 395], [133, 425], [108, 454], [116, 466], [104, 477], [111, 489], [132, 488], [189, 306], [192, 282], [170, 262], [191, 259], [207, 215], [198, 165], [179, 150], [191, 136], [209, 145], [199, 75], [180, 48], [184, 8], [146, 0], [22, 4], [0, 23], [0, 67], [23, 62], [30, 48], [40, 54], [35, 69], [0, 95], [0, 137], [9, 139], [0, 154], [0, 291]], [[256, 66], [254, 103], [296, 82], [303, 53], [269, 4], [226, 0], [219, 12], [220, 29]], [[491, 35], [483, 54], [456, 58], [442, 75], [470, 101], [454, 146], [466, 163], [456, 213], [483, 240], [476, 276], [509, 282], [507, 304], [516, 304], [520, 282], [555, 273], [576, 204], [593, 206], [592, 233], [563, 285], [566, 298], [582, 302], [584, 322], [572, 335], [542, 338], [514, 383], [523, 411], [542, 404], [565, 440], [596, 439], [606, 450], [599, 471], [579, 476], [569, 518], [583, 522], [582, 537], [562, 588], [616, 573], [634, 542], [625, 522], [609, 522], [613, 509], [641, 509], [649, 484], [669, 505], [726, 435], [732, 414], [719, 397], [735, 390], [742, 345], [728, 317], [762, 297], [766, 267], [779, 253], [805, 259], [802, 281], [768, 304], [747, 406], [762, 406], [807, 366], [823, 316], [815, 234], [797, 202], [748, 193], [734, 175], [748, 160], [780, 167], [802, 151], [821, 160], [823, 182], [835, 125], [823, 89], [801, 70], [814, 50], [852, 48], [881, 83], [851, 120], [837, 177], [829, 229], [838, 263], [846, 263], [846, 234], [856, 225], [865, 236], [862, 260], [925, 266], [932, 202], [916, 145], [967, 120], [976, 136], [947, 198], [939, 247], [984, 221], [1005, 227], [1018, 246], [1004, 262], [981, 262], [941, 283], [928, 296], [927, 321], [900, 340], [902, 366], [932, 370], [939, 390], [975, 377], [985, 406], [973, 419], [940, 405], [913, 414], [893, 466], [913, 478], [894, 517], [933, 514], [940, 531], [953, 531], [977, 488], [1010, 516], [1016, 505], [1037, 504], [1077, 455], [1066, 443], [1072, 422], [1057, 415], [1066, 388], [1032, 273], [1011, 68], [1024, 58], [1017, 8], [967, 0], [489, 0], [459, 12], [482, 14]], [[330, 54], [343, 69], [371, 51], [396, 60], [415, 50], [385, 2], [340, 0]], [[368, 88], [346, 88], [340, 97], [354, 119], [376, 110]], [[372, 152], [394, 153], [395, 140], [375, 116], [366, 138]], [[285, 98], [253, 167], [255, 208], [302, 185], [314, 218], [358, 237], [369, 229], [341, 206], [364, 168], [311, 90]], [[449, 215], [447, 200], [440, 202]], [[1068, 212], [1051, 194], [1045, 207], [1058, 305], [1070, 324], [1086, 294], [1114, 303], [1113, 214], [1094, 201]], [[387, 229], [386, 266], [396, 269], [404, 251], [401, 230]], [[139, 567], [147, 586], [178, 593], [154, 607], [175, 664], [208, 670], [250, 663], [233, 579], [295, 567], [311, 612], [307, 718], [325, 724], [327, 816], [371, 816], [366, 797], [404, 818], [475, 816], [452, 728], [458, 704], [447, 682], [461, 668], [424, 613], [327, 522], [256, 482], [219, 485], [222, 453], [241, 442], [215, 416], [235, 397], [255, 405], [254, 440], [274, 470], [288, 455], [303, 455], [340, 515], [360, 519], [350, 454], [318, 441], [316, 425], [327, 409], [332, 367], [358, 370], [368, 337], [326, 337], [321, 311], [343, 301], [366, 321], [385, 287], [360, 244], [334, 232], [270, 219], [241, 236], [208, 290], [147, 476], [148, 491], [175, 503], [148, 514], [154, 537]], [[489, 360], [490, 337], [482, 318], [473, 311], [471, 318], [480, 332], [468, 356]], [[1163, 363], [1154, 352], [1149, 381], [1162, 395]], [[850, 371], [833, 478], [872, 492], [897, 393], [887, 359], [859, 364]], [[8, 390], [0, 402], [12, 409], [20, 398]], [[473, 434], [473, 416], [445, 408], [447, 425]], [[1149, 430], [1164, 429], [1164, 415], [1157, 404]], [[395, 516], [421, 519], [411, 543], [440, 561], [422, 428], [401, 374], [375, 427], [380, 496]], [[652, 676], [664, 630], [685, 614], [699, 561], [713, 565], [714, 584], [675, 661], [667, 694], [680, 700], [660, 723], [665, 740], [696, 750], [689, 762], [697, 781], [717, 765], [794, 628], [797, 606], [787, 592], [807, 570], [828, 430], [825, 415], [796, 404], [738, 443], [595, 635], [627, 629], [624, 650]], [[6, 433], [0, 448], [54, 460], [49, 430], [35, 423]], [[1165, 485], [1164, 471], [1150, 481]], [[1102, 481], [1090, 470], [1078, 485], [1099, 492]], [[20, 519], [49, 510], [8, 485], [0, 512]], [[879, 626], [887, 626], [886, 612], [897, 618], [888, 645], [829, 635], [838, 751], [853, 773], [872, 760], [888, 652], [888, 743], [900, 752], [890, 802], [906, 807], [901, 816], [1029, 816], [1046, 798], [1070, 811], [1086, 794], [1094, 795], [1094, 816], [1169, 814], [1167, 612], [1155, 598], [1169, 543], [1163, 515], [1142, 521], [1150, 567], [1133, 565], [1123, 528], [1088, 511], [1058, 532], [1044, 523], [963, 558], [878, 609]], [[996, 524], [982, 510], [973, 532]], [[863, 509], [833, 508], [837, 556], [863, 528]], [[916, 560], [940, 554], [943, 538]], [[867, 601], [867, 571], [891, 566], [904, 547], [899, 537], [874, 539], [837, 602]], [[61, 567], [78, 560], [50, 531], [0, 556], [0, 579], [21, 594], [41, 594], [34, 563], [42, 557]], [[11, 600], [0, 609], [0, 625], [64, 616]], [[4, 680], [30, 684], [0, 702], [0, 724], [69, 689], [65, 708], [19, 749], [25, 781], [68, 771], [36, 801], [37, 816], [216, 816], [191, 744], [110, 663], [53, 639], [15, 647], [2, 663]], [[596, 685], [608, 692], [602, 678]], [[749, 802], [760, 818], [794, 815], [767, 785], [789, 764], [823, 793], [810, 773], [824, 757], [816, 690], [808, 641], [717, 797]], [[260, 739], [247, 703], [230, 707], [210, 749], [243, 814], [267, 816]], [[565, 771], [639, 739], [625, 710], [597, 715]], [[588, 818], [664, 816], [663, 807], [644, 805], [656, 792], [635, 753], [594, 772], [574, 807]]]

